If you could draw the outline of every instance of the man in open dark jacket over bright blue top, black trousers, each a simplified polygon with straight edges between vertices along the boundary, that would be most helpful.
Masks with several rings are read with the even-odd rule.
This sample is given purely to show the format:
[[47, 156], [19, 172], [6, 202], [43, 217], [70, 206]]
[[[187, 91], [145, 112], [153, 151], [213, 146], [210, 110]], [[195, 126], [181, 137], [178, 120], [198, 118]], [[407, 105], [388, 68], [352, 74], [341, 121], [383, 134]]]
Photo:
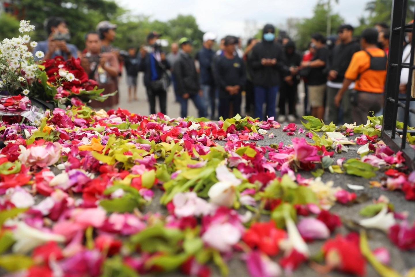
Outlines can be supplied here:
[[159, 98], [160, 112], [166, 114], [167, 88], [170, 78], [166, 70], [170, 69], [170, 63], [166, 55], [161, 51], [161, 46], [157, 44], [157, 39], [161, 34], [151, 32], [147, 35], [147, 42], [150, 51], [141, 49], [141, 61], [139, 71], [144, 72], [144, 86], [146, 86], [149, 98], [150, 114], [156, 113], [156, 97]]

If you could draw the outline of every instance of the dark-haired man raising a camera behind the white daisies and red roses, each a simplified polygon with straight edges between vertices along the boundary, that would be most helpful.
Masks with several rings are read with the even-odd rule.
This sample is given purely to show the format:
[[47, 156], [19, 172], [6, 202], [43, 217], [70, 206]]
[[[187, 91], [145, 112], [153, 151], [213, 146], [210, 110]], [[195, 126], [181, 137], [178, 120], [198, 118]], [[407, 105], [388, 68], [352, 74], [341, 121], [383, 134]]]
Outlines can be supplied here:
[[[49, 17], [45, 21], [47, 40], [38, 42], [33, 54], [42, 51], [45, 56], [42, 60], [53, 59], [56, 56], [63, 56], [63, 59], [78, 58], [78, 49], [75, 45], [69, 44], [71, 35], [66, 26], [66, 21], [61, 17]], [[36, 59], [36, 57], [35, 57]]]

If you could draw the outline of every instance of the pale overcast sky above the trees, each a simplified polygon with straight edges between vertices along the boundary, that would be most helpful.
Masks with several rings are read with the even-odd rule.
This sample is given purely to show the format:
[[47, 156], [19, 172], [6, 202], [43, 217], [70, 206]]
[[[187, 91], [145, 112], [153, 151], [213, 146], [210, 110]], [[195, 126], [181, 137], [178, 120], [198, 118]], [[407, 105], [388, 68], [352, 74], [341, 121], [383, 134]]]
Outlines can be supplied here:
[[[212, 31], [219, 37], [233, 34], [246, 37], [247, 20], [252, 28], [270, 22], [283, 26], [289, 17], [311, 17], [317, 0], [116, 0], [137, 15], [166, 21], [177, 15], [193, 15], [202, 31]], [[332, 1], [334, 2], [334, 1]], [[347, 23], [358, 24], [368, 0], [339, 0], [334, 5]]]

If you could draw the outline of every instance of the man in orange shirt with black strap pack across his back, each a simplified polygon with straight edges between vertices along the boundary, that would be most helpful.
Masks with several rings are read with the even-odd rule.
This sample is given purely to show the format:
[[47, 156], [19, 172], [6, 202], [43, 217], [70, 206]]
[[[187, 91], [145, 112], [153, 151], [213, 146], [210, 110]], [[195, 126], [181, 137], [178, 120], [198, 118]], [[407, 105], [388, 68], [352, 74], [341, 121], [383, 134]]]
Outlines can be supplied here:
[[370, 111], [377, 113], [383, 107], [386, 66], [388, 57], [385, 51], [377, 47], [378, 31], [365, 29], [361, 34], [362, 51], [354, 53], [352, 61], [344, 74], [343, 86], [334, 98], [339, 107], [344, 93], [353, 81], [356, 81], [352, 97], [352, 122], [366, 124]]

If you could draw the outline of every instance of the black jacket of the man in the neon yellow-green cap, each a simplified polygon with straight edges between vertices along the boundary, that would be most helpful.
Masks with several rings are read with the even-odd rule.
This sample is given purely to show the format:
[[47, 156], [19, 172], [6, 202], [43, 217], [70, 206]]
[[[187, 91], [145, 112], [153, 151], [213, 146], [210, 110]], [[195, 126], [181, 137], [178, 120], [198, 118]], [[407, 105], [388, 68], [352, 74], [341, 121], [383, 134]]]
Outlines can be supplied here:
[[176, 80], [176, 93], [178, 95], [185, 93], [195, 95], [200, 91], [195, 62], [189, 54], [183, 51], [180, 52], [177, 61], [173, 65], [173, 76]]

